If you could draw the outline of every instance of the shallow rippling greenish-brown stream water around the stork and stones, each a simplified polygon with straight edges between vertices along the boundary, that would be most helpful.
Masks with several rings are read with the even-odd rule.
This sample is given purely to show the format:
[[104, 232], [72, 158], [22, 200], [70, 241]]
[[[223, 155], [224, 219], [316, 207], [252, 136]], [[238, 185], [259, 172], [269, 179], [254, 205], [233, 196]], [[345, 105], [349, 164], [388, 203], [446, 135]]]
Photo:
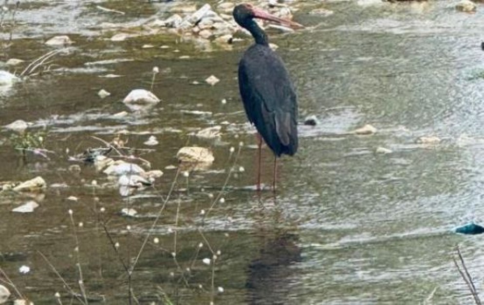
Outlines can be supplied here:
[[[132, 290], [141, 303], [162, 304], [165, 292], [173, 303], [209, 304], [212, 268], [202, 259], [212, 254], [205, 239], [214, 252], [221, 251], [213, 283], [224, 291], [215, 293], [216, 304], [416, 304], [434, 289], [434, 304], [472, 302], [451, 254], [459, 244], [480, 289], [482, 238], [450, 230], [483, 220], [484, 80], [474, 77], [484, 69], [482, 4], [468, 15], [444, 1], [332, 2], [324, 5], [335, 11], [330, 17], [308, 15], [309, 7], [296, 14], [298, 22], [319, 24], [316, 28], [271, 33], [295, 81], [301, 120], [315, 114], [321, 121], [300, 126], [298, 154], [279, 161], [275, 203], [272, 192], [258, 196], [247, 189], [255, 182], [256, 140], [245, 123], [236, 75], [249, 42], [232, 51], [201, 52], [199, 45], [175, 43], [169, 35], [106, 41], [98, 35], [101, 22], [135, 24], [171, 4], [144, 3], [134, 13], [133, 1], [84, 2], [56, 1], [48, 9], [26, 2], [31, 6], [19, 10], [22, 27], [4, 52], [31, 60], [50, 50], [42, 42], [52, 34], [70, 34], [75, 41], [69, 54], [56, 57], [60, 68], [54, 73], [15, 85], [0, 99], [2, 125], [24, 119], [34, 130], [45, 126], [46, 148], [56, 152], [51, 160], [24, 159], [7, 141], [10, 132], [2, 133], [1, 179], [40, 175], [50, 185], [45, 196], [36, 195], [40, 206], [34, 213], [10, 212], [27, 197], [0, 202], [1, 267], [35, 304], [53, 304], [56, 291], [69, 302], [68, 291], [38, 252], [79, 291], [75, 237], [88, 294], [103, 295], [108, 304], [127, 303], [128, 281], [119, 259], [128, 264], [138, 253], [177, 172], [165, 168], [176, 165], [176, 152], [186, 145], [212, 148], [215, 162], [209, 170], [178, 178], [133, 272]], [[118, 10], [125, 4], [128, 13], [101, 14], [98, 4]], [[75, 20], [76, 26], [61, 19]], [[142, 49], [145, 43], [169, 48]], [[180, 59], [183, 55], [190, 57]], [[154, 66], [162, 73], [152, 91], [162, 102], [132, 111], [120, 101], [133, 88], [149, 89]], [[101, 77], [106, 74], [121, 77]], [[212, 74], [220, 83], [205, 85]], [[100, 99], [101, 88], [112, 95]], [[112, 116], [120, 111], [129, 114]], [[348, 135], [368, 123], [378, 129], [375, 135]], [[220, 124], [220, 141], [189, 136]], [[103, 145], [91, 136], [110, 141], [119, 131], [128, 131], [121, 137], [133, 148], [151, 148], [143, 142], [155, 135], [156, 151], [140, 156], [165, 172], [154, 187], [127, 198], [90, 165], [80, 164], [80, 173], [68, 170], [77, 164], [69, 155]], [[416, 143], [430, 135], [442, 141]], [[238, 153], [240, 141], [245, 144]], [[378, 147], [392, 153], [375, 153]], [[265, 150], [265, 184], [272, 182], [272, 160]], [[231, 173], [225, 202], [204, 219], [200, 211], [209, 210], [209, 194], [222, 189], [231, 166], [245, 170]], [[106, 211], [100, 213], [100, 207]], [[135, 208], [137, 217], [121, 216], [124, 207]], [[83, 223], [75, 234], [69, 209], [74, 223]], [[118, 254], [98, 219], [109, 220]], [[153, 237], [160, 242], [153, 243]], [[31, 272], [20, 274], [22, 265]]]

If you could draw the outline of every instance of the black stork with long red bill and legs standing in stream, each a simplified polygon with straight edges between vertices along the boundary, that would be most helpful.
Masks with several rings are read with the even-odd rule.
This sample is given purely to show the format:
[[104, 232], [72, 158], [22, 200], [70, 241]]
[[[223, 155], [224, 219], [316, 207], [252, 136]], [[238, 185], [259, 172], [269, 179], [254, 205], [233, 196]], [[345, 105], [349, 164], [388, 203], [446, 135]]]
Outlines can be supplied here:
[[247, 119], [259, 132], [259, 167], [257, 190], [261, 189], [261, 145], [264, 139], [274, 153], [274, 191], [276, 189], [277, 157], [294, 155], [298, 150], [298, 101], [294, 85], [282, 59], [269, 47], [267, 34], [254, 18], [278, 22], [293, 28], [303, 26], [270, 15], [251, 4], [234, 8], [235, 21], [255, 39], [239, 63], [239, 89]]

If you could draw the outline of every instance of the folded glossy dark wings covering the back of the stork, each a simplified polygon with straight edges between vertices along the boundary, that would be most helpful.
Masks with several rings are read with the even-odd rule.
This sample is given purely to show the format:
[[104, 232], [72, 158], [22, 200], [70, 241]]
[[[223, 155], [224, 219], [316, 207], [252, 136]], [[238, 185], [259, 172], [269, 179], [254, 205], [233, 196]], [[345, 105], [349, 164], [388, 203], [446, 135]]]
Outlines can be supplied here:
[[280, 57], [265, 46], [249, 48], [239, 64], [239, 88], [247, 118], [274, 153], [298, 149], [298, 103]]

